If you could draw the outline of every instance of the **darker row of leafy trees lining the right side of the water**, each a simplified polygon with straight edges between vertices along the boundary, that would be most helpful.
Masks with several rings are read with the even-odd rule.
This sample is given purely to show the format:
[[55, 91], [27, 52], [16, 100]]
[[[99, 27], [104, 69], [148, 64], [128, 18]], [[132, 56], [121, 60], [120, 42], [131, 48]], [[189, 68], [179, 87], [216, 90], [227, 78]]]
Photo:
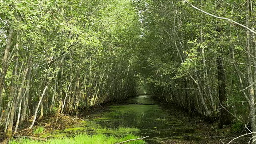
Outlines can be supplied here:
[[138, 60], [152, 93], [190, 115], [219, 120], [220, 128], [234, 122], [256, 132], [255, 2], [144, 0], [141, 5]]

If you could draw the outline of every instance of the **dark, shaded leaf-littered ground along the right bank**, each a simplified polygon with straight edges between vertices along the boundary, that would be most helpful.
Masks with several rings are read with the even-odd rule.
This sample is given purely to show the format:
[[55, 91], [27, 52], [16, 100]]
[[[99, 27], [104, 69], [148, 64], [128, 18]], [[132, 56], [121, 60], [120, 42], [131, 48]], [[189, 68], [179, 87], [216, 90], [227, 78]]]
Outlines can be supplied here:
[[[246, 133], [245, 130], [242, 132], [232, 132], [232, 125], [219, 129], [217, 121], [213, 123], [206, 122], [197, 114], [189, 118], [188, 113], [174, 105], [169, 105], [168, 110], [170, 114], [177, 116], [189, 128], [194, 129], [200, 135], [201, 140], [184, 137], [181, 140], [163, 140], [162, 144], [227, 144], [234, 138]], [[247, 133], [250, 132], [247, 130]], [[243, 136], [232, 141], [230, 144], [250, 144], [250, 138], [250, 135]]]

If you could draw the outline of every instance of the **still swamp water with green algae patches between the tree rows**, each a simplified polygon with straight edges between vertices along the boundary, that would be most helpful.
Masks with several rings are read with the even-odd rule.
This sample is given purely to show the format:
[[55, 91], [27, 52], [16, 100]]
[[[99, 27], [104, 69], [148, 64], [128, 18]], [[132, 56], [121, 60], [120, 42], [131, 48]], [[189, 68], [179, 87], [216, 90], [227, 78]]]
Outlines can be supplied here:
[[125, 101], [127, 104], [108, 106], [110, 110], [97, 114], [99, 118], [84, 120], [63, 131], [53, 131], [49, 135], [70, 136], [82, 132], [104, 133], [107, 135], [134, 134], [149, 136], [148, 144], [158, 144], [162, 140], [201, 140], [194, 130], [182, 124], [177, 116], [158, 106], [158, 101], [149, 95], [139, 95]]

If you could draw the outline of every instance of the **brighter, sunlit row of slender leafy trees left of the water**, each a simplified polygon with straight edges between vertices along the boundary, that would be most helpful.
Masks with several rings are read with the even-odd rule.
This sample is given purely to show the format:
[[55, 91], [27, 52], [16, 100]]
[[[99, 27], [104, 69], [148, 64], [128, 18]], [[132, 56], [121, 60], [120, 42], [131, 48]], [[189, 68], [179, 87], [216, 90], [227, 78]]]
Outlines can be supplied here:
[[[131, 0], [0, 1], [0, 129], [136, 92]], [[39, 112], [39, 114], [38, 114]]]

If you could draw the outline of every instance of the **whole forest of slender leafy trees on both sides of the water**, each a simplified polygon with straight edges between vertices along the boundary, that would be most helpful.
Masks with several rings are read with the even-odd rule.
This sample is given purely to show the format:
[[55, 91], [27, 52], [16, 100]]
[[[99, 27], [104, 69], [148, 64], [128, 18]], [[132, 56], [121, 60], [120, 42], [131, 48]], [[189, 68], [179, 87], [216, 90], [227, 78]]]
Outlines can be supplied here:
[[[254, 0], [0, 0], [0, 137], [134, 97], [256, 144]], [[57, 122], [57, 120], [56, 120]]]

